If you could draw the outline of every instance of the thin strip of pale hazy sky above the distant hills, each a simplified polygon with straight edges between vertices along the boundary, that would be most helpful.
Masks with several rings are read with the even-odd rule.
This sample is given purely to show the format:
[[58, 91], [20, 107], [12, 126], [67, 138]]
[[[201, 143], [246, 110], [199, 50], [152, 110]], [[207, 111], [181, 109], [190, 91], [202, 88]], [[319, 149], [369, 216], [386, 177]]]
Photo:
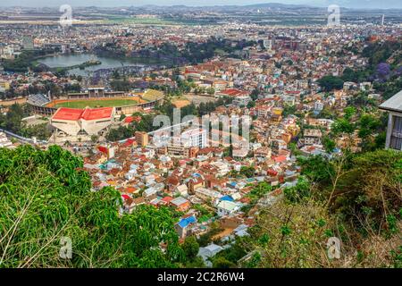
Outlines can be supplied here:
[[72, 6], [137, 6], [144, 4], [203, 6], [261, 3], [311, 4], [315, 6], [339, 4], [349, 8], [402, 8], [401, 0], [0, 0], [0, 6], [60, 6], [61, 4], [71, 4]]

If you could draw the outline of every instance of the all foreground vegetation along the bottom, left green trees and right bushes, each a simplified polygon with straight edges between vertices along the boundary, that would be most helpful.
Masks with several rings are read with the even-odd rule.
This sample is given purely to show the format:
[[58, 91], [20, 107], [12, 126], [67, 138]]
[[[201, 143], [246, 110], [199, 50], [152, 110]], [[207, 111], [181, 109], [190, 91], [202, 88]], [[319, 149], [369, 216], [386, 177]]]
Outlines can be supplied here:
[[[251, 235], [235, 240], [213, 265], [401, 267], [402, 154], [300, 157], [299, 164], [297, 185], [260, 209]], [[174, 231], [179, 214], [138, 206], [119, 215], [119, 192], [92, 192], [82, 166], [60, 147], [0, 149], [1, 267], [204, 266], [198, 248], [214, 240], [219, 224], [180, 246]], [[272, 190], [263, 183], [252, 194], [258, 200]], [[340, 259], [328, 257], [333, 236], [342, 241]], [[71, 238], [72, 259], [59, 256], [63, 237]]]

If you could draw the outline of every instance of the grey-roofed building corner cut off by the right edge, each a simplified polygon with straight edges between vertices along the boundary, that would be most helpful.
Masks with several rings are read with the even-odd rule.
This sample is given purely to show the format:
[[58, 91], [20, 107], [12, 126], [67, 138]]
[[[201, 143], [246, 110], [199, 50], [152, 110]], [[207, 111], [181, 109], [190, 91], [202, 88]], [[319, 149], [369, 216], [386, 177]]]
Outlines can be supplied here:
[[389, 112], [385, 147], [402, 151], [402, 90], [380, 105], [380, 109]]

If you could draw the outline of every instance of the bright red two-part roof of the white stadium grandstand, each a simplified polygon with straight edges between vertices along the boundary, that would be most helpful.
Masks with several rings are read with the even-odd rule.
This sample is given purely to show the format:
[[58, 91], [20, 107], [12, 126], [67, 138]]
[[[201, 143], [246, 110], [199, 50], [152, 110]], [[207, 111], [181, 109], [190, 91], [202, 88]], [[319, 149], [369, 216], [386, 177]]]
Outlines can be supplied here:
[[103, 118], [110, 118], [113, 113], [113, 107], [103, 107], [103, 108], [86, 108], [86, 109], [75, 109], [62, 107], [56, 111], [53, 115], [55, 120], [98, 120]]

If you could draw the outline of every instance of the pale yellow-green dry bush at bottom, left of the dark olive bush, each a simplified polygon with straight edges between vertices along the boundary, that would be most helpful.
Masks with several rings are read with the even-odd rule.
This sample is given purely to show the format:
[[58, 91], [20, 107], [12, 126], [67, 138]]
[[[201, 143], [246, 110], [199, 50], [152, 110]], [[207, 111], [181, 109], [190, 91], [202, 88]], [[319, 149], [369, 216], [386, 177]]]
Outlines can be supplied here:
[[323, 246], [334, 229], [335, 220], [312, 199], [281, 200], [257, 215], [249, 244], [261, 253], [258, 267], [331, 267], [339, 262], [331, 262]]

